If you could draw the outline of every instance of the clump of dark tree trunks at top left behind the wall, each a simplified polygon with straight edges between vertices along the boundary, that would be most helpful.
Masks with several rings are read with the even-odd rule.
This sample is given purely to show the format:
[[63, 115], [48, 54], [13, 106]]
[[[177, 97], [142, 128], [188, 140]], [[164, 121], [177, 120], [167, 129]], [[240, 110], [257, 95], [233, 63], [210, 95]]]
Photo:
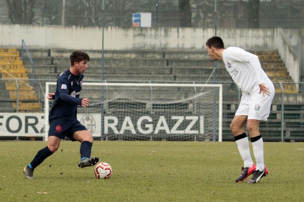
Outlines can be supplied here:
[[35, 0], [6, 0], [13, 24], [32, 24]]

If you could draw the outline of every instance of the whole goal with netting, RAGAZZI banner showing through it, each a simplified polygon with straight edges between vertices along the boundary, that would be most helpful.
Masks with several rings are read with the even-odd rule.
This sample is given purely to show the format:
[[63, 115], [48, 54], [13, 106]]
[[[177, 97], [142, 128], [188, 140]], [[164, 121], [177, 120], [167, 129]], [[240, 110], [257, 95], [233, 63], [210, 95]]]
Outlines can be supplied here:
[[[56, 82], [46, 82], [46, 94]], [[95, 139], [221, 141], [221, 84], [89, 83], [80, 97], [78, 120]], [[46, 140], [49, 110], [45, 99]]]

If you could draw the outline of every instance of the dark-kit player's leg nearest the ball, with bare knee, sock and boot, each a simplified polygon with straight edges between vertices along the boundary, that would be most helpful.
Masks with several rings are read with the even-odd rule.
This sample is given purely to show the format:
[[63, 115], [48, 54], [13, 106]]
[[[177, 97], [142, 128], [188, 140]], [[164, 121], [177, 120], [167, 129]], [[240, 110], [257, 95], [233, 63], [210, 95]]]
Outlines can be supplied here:
[[98, 157], [91, 157], [92, 145], [93, 145], [93, 136], [88, 130], [75, 131], [72, 135], [74, 140], [80, 141], [80, 155], [81, 161], [78, 166], [81, 168], [87, 166], [94, 166], [98, 161]]

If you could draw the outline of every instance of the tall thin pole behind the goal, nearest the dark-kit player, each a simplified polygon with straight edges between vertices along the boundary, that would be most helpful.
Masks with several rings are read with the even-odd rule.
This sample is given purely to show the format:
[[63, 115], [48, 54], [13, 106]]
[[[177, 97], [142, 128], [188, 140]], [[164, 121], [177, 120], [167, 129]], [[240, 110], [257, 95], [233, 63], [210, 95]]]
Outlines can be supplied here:
[[[104, 54], [103, 54], [103, 27], [104, 27], [104, 1], [102, 0], [102, 48], [101, 48], [101, 82], [104, 82], [104, 77], [103, 77], [103, 73], [104, 73]], [[103, 95], [103, 86], [101, 86], [101, 131], [100, 131], [100, 138], [104, 139], [104, 128], [103, 128], [103, 123], [104, 123], [104, 105], [103, 105], [103, 100], [104, 100], [104, 95]]]

